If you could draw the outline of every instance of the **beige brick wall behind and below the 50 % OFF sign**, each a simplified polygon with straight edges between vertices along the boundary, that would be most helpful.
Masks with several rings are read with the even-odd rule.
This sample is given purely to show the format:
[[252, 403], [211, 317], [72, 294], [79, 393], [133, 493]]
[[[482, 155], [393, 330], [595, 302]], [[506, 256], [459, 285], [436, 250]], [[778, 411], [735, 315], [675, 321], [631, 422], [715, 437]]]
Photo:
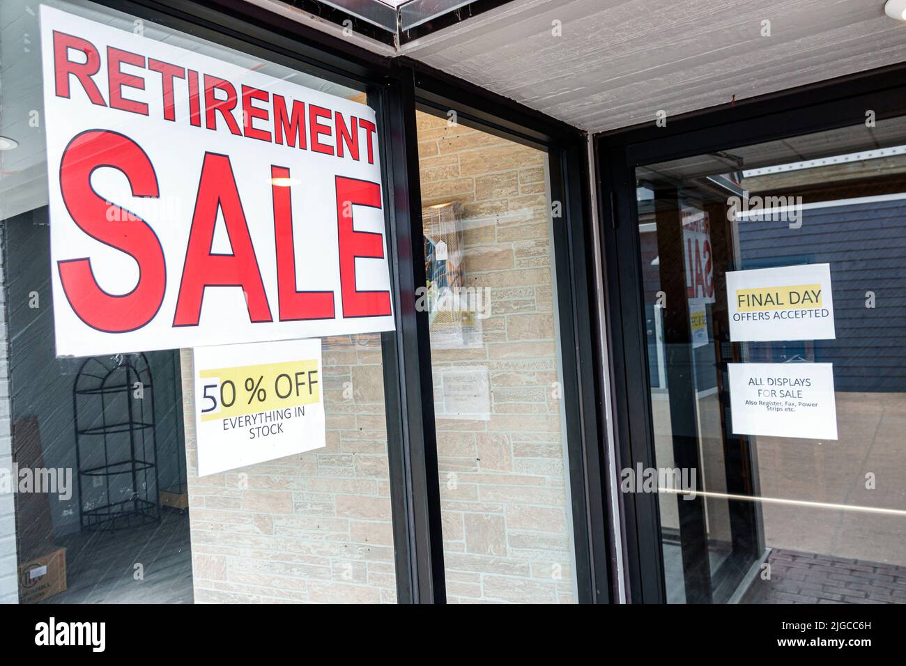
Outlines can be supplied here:
[[196, 603], [395, 603], [380, 336], [323, 343], [325, 449], [205, 478], [182, 377]]

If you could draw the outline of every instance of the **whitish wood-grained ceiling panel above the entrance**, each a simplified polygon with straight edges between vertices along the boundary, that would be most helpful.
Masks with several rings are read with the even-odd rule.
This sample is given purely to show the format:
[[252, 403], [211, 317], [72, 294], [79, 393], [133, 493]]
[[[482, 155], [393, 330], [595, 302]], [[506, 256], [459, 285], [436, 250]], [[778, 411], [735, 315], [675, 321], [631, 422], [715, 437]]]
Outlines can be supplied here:
[[906, 62], [906, 23], [883, 5], [516, 0], [401, 51], [577, 127], [610, 130]]

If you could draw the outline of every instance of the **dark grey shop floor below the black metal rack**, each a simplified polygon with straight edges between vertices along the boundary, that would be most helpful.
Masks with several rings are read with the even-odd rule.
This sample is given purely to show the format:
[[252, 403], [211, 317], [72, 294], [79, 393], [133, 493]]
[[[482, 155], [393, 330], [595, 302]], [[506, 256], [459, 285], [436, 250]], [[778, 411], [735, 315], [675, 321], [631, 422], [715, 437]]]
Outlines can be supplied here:
[[192, 603], [188, 535], [188, 513], [162, 509], [159, 525], [61, 539], [69, 589], [45, 603]]

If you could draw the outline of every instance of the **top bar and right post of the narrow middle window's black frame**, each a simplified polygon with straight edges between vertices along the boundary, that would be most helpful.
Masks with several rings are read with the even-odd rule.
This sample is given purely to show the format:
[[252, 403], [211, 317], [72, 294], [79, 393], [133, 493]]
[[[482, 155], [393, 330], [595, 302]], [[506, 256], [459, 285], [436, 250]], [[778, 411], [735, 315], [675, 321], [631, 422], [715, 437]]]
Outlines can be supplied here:
[[[575, 578], [580, 603], [610, 603], [614, 598], [612, 538], [605, 508], [603, 403], [600, 374], [594, 363], [594, 299], [591, 197], [588, 138], [573, 127], [526, 109], [477, 86], [401, 59], [414, 74], [419, 109], [448, 117], [507, 140], [543, 150], [548, 155], [551, 203], [562, 217], [553, 227], [554, 284], [565, 410]], [[414, 122], [414, 109], [413, 118]], [[410, 174], [410, 181], [418, 179]], [[415, 217], [415, 216], [413, 216]], [[560, 223], [560, 222], [563, 223]], [[421, 233], [419, 219], [419, 234]], [[423, 277], [421, 278], [423, 279]], [[427, 314], [426, 314], [427, 327]], [[423, 353], [430, 371], [430, 349]]]

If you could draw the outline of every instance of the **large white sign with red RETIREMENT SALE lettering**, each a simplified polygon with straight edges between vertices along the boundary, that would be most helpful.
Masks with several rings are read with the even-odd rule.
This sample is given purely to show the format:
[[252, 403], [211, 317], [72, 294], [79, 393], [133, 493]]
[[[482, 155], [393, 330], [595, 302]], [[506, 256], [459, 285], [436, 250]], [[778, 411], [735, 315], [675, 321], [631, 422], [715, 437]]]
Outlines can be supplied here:
[[58, 356], [393, 329], [368, 106], [46, 6], [41, 41]]

